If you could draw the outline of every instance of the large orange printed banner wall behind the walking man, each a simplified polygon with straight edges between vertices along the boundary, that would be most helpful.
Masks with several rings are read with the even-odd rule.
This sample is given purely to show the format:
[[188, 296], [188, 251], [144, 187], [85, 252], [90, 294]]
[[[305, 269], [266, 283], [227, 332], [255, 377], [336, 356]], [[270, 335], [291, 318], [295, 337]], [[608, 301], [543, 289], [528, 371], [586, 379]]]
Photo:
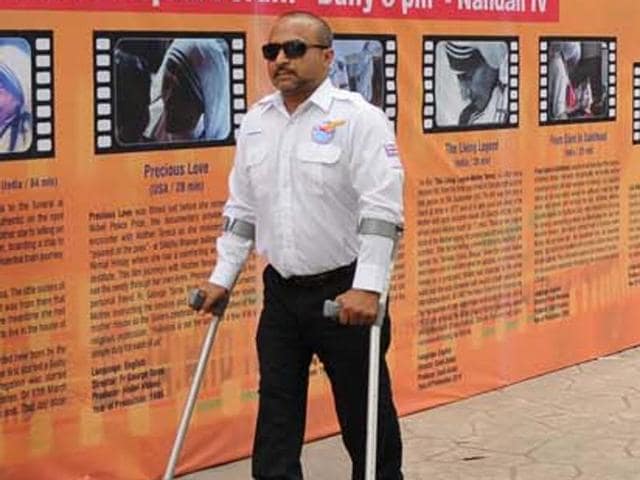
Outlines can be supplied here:
[[[45, 3], [0, 3], [0, 478], [160, 478], [207, 326], [186, 296], [215, 262], [234, 132], [271, 88], [274, 17]], [[521, 3], [545, 15], [499, 14]], [[336, 33], [332, 81], [387, 113], [407, 174], [402, 414], [640, 343], [635, 3], [427, 4], [309, 6]], [[171, 52], [207, 59], [190, 100], [167, 93]], [[250, 454], [263, 266], [236, 285], [178, 473]], [[311, 373], [308, 439], [338, 428]]]

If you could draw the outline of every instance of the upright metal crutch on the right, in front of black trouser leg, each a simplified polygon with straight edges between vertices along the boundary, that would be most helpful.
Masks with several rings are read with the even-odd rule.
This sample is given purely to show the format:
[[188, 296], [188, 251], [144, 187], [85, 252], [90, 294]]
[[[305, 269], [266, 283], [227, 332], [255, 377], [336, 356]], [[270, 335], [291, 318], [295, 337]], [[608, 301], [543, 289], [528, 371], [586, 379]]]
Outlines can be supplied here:
[[[380, 384], [380, 330], [384, 322], [384, 314], [387, 311], [387, 297], [391, 286], [391, 275], [393, 265], [402, 234], [401, 226], [393, 226], [393, 249], [391, 251], [391, 262], [387, 271], [387, 278], [380, 293], [378, 302], [378, 312], [376, 321], [371, 325], [369, 336], [369, 380], [367, 384], [367, 450], [365, 458], [365, 480], [375, 480], [376, 459], [378, 443], [378, 388]], [[362, 230], [362, 226], [361, 226]], [[375, 228], [374, 228], [375, 230]], [[376, 231], [377, 233], [377, 231]], [[384, 235], [391, 236], [391, 235]], [[333, 300], [325, 300], [323, 315], [325, 317], [337, 317], [340, 314], [340, 305]]]

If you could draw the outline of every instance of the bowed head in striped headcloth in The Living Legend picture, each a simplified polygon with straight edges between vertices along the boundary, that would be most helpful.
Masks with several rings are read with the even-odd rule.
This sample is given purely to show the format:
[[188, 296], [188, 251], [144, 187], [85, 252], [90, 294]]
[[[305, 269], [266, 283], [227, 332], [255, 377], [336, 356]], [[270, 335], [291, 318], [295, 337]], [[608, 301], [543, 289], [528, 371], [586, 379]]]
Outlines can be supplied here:
[[447, 42], [445, 51], [451, 70], [458, 77], [463, 100], [476, 111], [483, 111], [498, 82], [506, 46], [503, 42]]

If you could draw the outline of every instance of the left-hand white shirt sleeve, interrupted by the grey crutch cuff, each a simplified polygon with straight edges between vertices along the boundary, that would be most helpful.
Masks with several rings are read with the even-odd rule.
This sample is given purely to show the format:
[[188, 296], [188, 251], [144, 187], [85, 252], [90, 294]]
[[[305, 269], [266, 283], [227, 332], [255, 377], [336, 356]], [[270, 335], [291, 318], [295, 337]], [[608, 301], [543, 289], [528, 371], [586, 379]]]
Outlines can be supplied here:
[[[224, 206], [224, 215], [255, 225], [253, 193], [245, 171], [244, 124], [238, 134], [233, 168], [229, 175], [229, 198]], [[253, 240], [232, 232], [223, 232], [216, 240], [217, 261], [209, 282], [231, 289], [242, 270]]]

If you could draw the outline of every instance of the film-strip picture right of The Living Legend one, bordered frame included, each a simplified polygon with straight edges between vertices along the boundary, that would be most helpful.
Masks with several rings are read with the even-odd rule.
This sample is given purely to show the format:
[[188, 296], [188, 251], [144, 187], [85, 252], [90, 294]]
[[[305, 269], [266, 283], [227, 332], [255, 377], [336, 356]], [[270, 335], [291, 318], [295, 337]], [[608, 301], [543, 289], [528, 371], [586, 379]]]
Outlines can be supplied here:
[[541, 37], [539, 124], [616, 119], [617, 40]]

